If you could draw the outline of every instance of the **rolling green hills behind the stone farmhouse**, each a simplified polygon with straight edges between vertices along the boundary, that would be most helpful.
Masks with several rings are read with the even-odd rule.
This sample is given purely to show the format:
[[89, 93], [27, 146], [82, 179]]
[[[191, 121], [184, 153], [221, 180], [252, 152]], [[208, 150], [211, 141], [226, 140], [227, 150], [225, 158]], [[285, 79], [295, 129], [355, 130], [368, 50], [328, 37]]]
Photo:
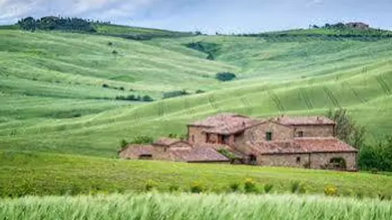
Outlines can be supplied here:
[[[368, 142], [392, 129], [389, 32], [206, 36], [89, 25], [94, 31], [1, 28], [2, 151], [115, 157], [122, 139], [184, 133], [187, 122], [223, 111], [266, 117], [345, 107], [368, 127]], [[145, 33], [153, 37], [124, 37]], [[222, 82], [220, 72], [237, 78]], [[168, 92], [186, 96], [162, 99]]]

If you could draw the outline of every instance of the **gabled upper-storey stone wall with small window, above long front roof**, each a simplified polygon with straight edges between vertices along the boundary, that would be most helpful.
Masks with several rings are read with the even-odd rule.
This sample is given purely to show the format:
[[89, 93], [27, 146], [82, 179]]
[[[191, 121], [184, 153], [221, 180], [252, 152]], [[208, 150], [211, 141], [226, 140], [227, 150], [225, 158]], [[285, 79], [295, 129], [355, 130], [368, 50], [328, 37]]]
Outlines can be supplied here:
[[294, 139], [294, 129], [274, 122], [265, 122], [246, 130], [243, 140], [256, 141], [265, 140], [265, 133], [272, 133], [272, 140], [292, 140]]

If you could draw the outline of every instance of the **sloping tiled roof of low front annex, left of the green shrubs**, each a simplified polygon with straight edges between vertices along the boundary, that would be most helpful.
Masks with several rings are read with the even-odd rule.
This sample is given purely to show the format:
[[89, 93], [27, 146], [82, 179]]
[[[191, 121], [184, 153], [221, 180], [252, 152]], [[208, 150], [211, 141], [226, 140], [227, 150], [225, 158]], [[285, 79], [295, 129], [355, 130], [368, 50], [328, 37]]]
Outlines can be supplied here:
[[213, 148], [168, 148], [168, 153], [177, 160], [185, 162], [228, 162], [229, 159]]

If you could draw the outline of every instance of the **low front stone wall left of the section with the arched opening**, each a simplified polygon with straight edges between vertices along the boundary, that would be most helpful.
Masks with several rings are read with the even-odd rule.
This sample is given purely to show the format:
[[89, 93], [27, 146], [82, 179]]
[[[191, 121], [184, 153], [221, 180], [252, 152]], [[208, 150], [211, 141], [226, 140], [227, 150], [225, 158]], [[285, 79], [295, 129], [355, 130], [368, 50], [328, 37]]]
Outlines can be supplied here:
[[305, 168], [305, 165], [309, 164], [309, 154], [259, 155], [257, 156], [257, 164], [261, 166]]

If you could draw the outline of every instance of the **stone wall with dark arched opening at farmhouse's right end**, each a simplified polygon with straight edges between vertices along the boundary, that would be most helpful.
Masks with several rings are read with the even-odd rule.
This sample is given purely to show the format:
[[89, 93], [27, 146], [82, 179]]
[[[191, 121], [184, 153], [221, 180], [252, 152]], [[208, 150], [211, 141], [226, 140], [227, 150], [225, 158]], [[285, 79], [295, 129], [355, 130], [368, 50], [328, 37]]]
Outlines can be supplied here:
[[312, 153], [311, 168], [319, 169], [329, 163], [329, 159], [334, 157], [343, 157], [346, 160], [347, 170], [356, 170], [357, 153]]

